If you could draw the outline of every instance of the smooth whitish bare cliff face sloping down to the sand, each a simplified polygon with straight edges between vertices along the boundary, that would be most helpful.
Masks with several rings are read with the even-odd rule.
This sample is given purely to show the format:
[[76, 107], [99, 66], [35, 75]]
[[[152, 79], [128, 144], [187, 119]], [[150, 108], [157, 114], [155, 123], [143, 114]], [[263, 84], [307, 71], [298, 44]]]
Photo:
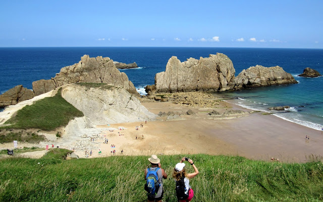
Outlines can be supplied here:
[[157, 117], [142, 106], [135, 96], [119, 86], [100, 85], [99, 88], [91, 88], [70, 84], [63, 87], [62, 97], [94, 124], [155, 120]]

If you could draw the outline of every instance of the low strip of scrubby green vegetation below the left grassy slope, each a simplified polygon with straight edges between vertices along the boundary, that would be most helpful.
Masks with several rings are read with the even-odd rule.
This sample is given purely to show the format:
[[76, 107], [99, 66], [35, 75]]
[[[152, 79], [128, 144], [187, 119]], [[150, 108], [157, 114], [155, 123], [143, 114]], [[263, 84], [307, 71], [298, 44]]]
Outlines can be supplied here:
[[14, 140], [26, 143], [39, 143], [46, 140], [45, 136], [38, 135], [34, 132], [14, 132], [14, 131], [1, 131], [0, 143], [12, 143]]

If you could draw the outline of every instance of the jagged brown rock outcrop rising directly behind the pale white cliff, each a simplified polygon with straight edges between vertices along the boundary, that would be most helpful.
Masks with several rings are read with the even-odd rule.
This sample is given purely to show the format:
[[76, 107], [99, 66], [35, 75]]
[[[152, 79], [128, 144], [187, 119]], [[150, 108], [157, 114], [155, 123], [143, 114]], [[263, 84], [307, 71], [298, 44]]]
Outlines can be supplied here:
[[46, 93], [57, 87], [72, 83], [105, 83], [121, 86], [128, 92], [139, 95], [125, 73], [119, 72], [109, 57], [90, 57], [84, 55], [81, 60], [61, 69], [56, 77], [50, 80], [39, 80], [32, 83], [35, 96]]

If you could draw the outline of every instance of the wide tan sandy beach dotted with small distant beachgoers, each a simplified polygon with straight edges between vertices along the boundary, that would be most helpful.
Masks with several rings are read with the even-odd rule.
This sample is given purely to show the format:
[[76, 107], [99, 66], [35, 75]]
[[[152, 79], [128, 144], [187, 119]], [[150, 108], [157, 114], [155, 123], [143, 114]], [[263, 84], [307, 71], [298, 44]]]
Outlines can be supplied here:
[[[199, 105], [183, 105], [171, 102], [146, 102], [142, 104], [155, 114], [174, 112], [176, 120], [161, 117], [156, 121], [96, 125], [99, 131], [95, 136], [74, 138], [63, 136], [57, 139], [47, 134], [47, 142], [19, 144], [19, 147], [54, 144], [60, 148], [74, 150], [80, 158], [106, 157], [113, 155], [168, 155], [168, 154], [210, 154], [239, 155], [249, 159], [281, 162], [305, 162], [310, 155], [322, 156], [323, 132], [278, 118], [272, 114], [242, 108], [237, 105], [219, 102], [215, 108], [220, 113], [228, 110], [243, 110], [246, 114], [210, 116], [207, 112], [214, 108]], [[187, 115], [191, 109], [194, 115]], [[250, 113], [251, 112], [251, 113]], [[180, 120], [183, 119], [183, 120]], [[143, 127], [140, 126], [143, 125]], [[138, 126], [138, 129], [136, 127]], [[124, 129], [118, 129], [118, 128]], [[109, 128], [109, 129], [106, 129]], [[305, 136], [309, 136], [309, 140]], [[49, 137], [50, 136], [50, 137]], [[94, 141], [91, 141], [92, 137]], [[108, 140], [105, 144], [105, 139]], [[80, 143], [81, 142], [81, 143]], [[74, 147], [81, 144], [83, 147]], [[12, 143], [2, 144], [1, 148], [12, 148]], [[115, 147], [111, 147], [115, 145]], [[93, 149], [94, 148], [94, 149]], [[92, 155], [85, 155], [85, 151]], [[99, 154], [99, 150], [101, 153]], [[121, 151], [123, 150], [123, 153]], [[115, 151], [115, 154], [113, 153]], [[39, 152], [38, 152], [39, 153]], [[37, 157], [39, 154], [37, 153]], [[36, 155], [36, 154], [35, 154]], [[32, 156], [32, 154], [28, 154]]]

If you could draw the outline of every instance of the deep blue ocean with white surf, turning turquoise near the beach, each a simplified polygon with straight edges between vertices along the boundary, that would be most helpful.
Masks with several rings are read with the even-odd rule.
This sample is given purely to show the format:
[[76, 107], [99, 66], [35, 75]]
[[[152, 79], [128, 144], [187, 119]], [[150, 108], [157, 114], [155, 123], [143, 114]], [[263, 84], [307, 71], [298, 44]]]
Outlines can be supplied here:
[[[302, 78], [307, 67], [323, 74], [323, 49], [283, 48], [200, 48], [200, 47], [33, 47], [0, 48], [0, 94], [22, 84], [32, 89], [32, 82], [55, 77], [64, 66], [80, 61], [81, 56], [110, 57], [114, 61], [136, 62], [139, 68], [121, 70], [144, 94], [146, 85], [154, 84], [156, 73], [163, 72], [171, 56], [181, 61], [187, 58], [208, 57], [224, 53], [230, 57], [236, 76], [256, 64], [281, 66], [292, 74], [298, 84], [246, 89], [237, 92], [222, 92], [230, 96], [228, 102], [254, 110], [268, 111], [268, 107], [291, 106], [275, 115], [317, 130], [323, 124], [323, 77]], [[0, 109], [2, 111], [3, 109]]]

